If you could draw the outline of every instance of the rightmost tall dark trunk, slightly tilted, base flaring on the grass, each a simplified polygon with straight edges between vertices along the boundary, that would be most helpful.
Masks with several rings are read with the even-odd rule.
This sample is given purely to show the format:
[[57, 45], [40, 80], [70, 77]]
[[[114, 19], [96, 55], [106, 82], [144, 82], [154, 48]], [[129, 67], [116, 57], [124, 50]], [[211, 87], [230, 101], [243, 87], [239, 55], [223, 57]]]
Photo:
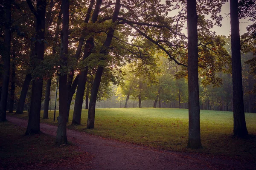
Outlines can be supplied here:
[[230, 25], [234, 107], [234, 135], [244, 137], [247, 136], [248, 131], [244, 116], [238, 0], [230, 0]]

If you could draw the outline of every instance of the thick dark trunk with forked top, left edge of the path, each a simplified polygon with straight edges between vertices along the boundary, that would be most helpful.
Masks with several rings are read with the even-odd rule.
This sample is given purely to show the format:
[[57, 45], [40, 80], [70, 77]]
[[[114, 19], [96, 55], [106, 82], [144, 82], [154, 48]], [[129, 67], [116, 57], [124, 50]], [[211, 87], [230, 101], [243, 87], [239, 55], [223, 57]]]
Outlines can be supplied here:
[[[44, 60], [44, 32], [45, 32], [45, 14], [46, 14], [46, 0], [37, 0], [34, 8], [31, 0], [26, 0], [30, 10], [35, 15], [35, 58], [32, 60], [33, 69], [41, 65]], [[29, 108], [29, 122], [26, 130], [26, 135], [31, 133], [40, 132], [40, 111], [41, 111], [41, 99], [43, 78], [41, 75], [36, 75], [32, 81], [32, 96]]]

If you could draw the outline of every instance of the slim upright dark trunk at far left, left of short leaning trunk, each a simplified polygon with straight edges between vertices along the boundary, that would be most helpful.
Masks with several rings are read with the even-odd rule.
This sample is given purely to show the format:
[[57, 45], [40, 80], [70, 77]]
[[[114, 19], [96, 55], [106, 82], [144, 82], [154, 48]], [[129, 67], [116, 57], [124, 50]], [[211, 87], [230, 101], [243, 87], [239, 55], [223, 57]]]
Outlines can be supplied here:
[[16, 65], [15, 65], [15, 61], [14, 60], [15, 60], [15, 54], [13, 54], [13, 60], [12, 60], [12, 80], [11, 80], [11, 96], [10, 96], [9, 113], [13, 113], [14, 98], [15, 98]]

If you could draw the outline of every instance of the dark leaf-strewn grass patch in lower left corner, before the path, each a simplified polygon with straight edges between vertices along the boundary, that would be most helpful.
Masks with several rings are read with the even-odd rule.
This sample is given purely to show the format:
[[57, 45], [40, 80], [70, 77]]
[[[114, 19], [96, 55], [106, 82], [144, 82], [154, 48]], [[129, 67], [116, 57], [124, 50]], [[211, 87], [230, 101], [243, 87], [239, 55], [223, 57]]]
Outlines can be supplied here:
[[79, 156], [80, 152], [75, 145], [55, 147], [54, 137], [43, 133], [23, 136], [25, 131], [25, 128], [9, 122], [0, 123], [0, 169], [45, 167], [51, 163]]

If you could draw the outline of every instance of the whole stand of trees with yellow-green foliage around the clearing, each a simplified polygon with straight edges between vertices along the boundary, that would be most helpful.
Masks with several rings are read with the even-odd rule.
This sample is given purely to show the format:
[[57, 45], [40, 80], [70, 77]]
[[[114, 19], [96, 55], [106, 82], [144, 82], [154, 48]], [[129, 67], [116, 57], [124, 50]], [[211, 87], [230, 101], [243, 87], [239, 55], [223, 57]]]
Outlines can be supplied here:
[[[233, 135], [245, 138], [245, 113], [256, 113], [256, 1], [230, 0], [222, 16], [225, 3], [2, 0], [0, 122], [28, 112], [25, 134], [38, 134], [41, 112], [57, 110], [62, 145], [82, 109], [93, 129], [97, 108], [183, 108], [187, 147], [198, 149], [200, 110], [231, 111]], [[224, 17], [230, 35], [214, 31]]]

